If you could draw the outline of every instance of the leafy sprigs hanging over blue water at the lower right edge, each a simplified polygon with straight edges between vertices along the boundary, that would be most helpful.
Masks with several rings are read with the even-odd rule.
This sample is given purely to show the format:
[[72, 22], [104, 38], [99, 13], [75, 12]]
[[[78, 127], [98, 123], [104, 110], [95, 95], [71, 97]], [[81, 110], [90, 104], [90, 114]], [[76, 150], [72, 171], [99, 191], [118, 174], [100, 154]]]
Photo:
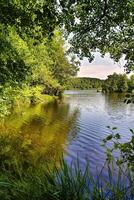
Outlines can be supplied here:
[[[107, 126], [107, 128], [111, 131], [111, 134], [103, 140], [103, 144], [106, 148], [108, 162], [115, 160], [118, 166], [122, 167], [122, 164], [126, 164], [131, 171], [134, 171], [134, 130], [130, 129], [132, 136], [129, 141], [123, 143], [117, 127]], [[112, 145], [110, 145], [110, 142]], [[115, 151], [119, 152], [116, 157], [114, 157]], [[133, 175], [131, 178], [134, 181]]]

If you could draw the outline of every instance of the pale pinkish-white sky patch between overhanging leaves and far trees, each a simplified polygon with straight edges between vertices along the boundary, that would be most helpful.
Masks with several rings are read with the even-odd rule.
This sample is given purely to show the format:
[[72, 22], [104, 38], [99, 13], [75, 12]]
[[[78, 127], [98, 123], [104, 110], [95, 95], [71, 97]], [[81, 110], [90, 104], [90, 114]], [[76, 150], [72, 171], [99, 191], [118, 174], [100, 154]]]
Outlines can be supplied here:
[[95, 53], [95, 59], [92, 63], [89, 63], [86, 58], [81, 61], [77, 76], [106, 79], [108, 75], [114, 72], [124, 73], [123, 65], [123, 59], [120, 60], [120, 63], [115, 63], [108, 54], [102, 58], [99, 53]]

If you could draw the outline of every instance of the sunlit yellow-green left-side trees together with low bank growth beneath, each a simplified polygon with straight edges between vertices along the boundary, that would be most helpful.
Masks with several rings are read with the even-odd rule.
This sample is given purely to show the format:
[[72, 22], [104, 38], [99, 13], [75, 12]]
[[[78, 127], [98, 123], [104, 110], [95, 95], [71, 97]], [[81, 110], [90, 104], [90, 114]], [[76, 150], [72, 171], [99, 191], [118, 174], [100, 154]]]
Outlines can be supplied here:
[[51, 40], [44, 37], [38, 41], [26, 34], [21, 37], [14, 27], [9, 26], [6, 32], [4, 25], [1, 27], [0, 37], [6, 41], [0, 57], [1, 116], [9, 114], [12, 105], [48, 101], [52, 99], [48, 95], [61, 95], [61, 83], [76, 67], [65, 56], [60, 32], [55, 31]]

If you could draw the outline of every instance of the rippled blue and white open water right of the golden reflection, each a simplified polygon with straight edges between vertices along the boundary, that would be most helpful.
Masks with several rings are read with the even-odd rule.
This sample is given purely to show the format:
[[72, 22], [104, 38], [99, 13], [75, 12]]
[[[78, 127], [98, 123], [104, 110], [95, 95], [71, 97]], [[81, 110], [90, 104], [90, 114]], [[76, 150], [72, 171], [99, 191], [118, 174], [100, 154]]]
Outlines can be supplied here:
[[105, 163], [102, 139], [111, 134], [106, 126], [118, 127], [122, 140], [130, 138], [129, 128], [134, 129], [134, 105], [124, 104], [123, 94], [103, 94], [95, 90], [67, 91], [70, 109], [79, 108], [77, 137], [68, 146], [67, 161], [79, 157], [81, 167], [90, 162], [90, 172], [96, 174]]

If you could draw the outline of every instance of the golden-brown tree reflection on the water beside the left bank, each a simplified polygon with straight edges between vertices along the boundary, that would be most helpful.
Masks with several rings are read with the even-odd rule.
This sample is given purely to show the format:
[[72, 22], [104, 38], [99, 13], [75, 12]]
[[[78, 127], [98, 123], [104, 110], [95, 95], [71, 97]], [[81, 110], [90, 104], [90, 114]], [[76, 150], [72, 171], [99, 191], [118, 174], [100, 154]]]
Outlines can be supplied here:
[[[10, 164], [21, 163], [24, 168], [58, 161], [77, 117], [78, 110], [70, 111], [68, 104], [55, 102], [40, 106], [26, 121], [22, 116], [22, 124], [19, 122], [21, 125], [16, 131], [2, 136], [0, 157]], [[14, 126], [15, 120], [18, 120], [17, 116], [13, 119]], [[9, 126], [8, 130], [11, 130]]]

